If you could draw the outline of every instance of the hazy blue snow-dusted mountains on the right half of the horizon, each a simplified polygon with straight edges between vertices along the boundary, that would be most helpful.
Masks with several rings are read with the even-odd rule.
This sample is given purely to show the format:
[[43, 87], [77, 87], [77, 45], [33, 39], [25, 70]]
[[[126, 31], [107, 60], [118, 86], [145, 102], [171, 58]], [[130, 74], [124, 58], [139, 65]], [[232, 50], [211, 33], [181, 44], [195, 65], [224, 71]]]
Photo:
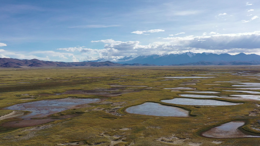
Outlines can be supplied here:
[[[155, 64], [155, 65], [184, 65], [184, 64], [200, 64], [207, 62], [205, 65], [237, 65], [237, 64], [260, 64], [260, 55], [251, 54], [246, 55], [240, 53], [238, 55], [229, 54], [208, 54], [208, 53], [192, 53], [187, 52], [183, 54], [170, 54], [170, 55], [141, 55], [127, 61], [117, 61], [122, 64]], [[235, 63], [235, 62], [237, 63]], [[199, 63], [200, 62], [200, 63]], [[227, 63], [229, 62], [229, 63]], [[233, 63], [231, 63], [233, 62]], [[240, 62], [240, 63], [239, 63]], [[223, 64], [221, 64], [223, 63]], [[201, 65], [204, 65], [203, 63]]]

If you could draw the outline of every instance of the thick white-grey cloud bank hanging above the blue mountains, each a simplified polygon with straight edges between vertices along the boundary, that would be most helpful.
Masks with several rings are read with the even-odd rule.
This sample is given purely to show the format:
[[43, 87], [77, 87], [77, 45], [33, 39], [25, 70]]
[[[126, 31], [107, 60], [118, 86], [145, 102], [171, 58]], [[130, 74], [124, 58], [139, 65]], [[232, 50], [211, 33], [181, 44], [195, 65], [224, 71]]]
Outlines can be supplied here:
[[[183, 34], [183, 33], [180, 33]], [[176, 34], [177, 35], [177, 34]], [[238, 34], [209, 33], [206, 36], [164, 37], [147, 45], [140, 41], [116, 41], [113, 39], [95, 40], [104, 43], [103, 49], [86, 47], [60, 48], [66, 52], [78, 52], [80, 60], [104, 59], [117, 61], [125, 56], [166, 55], [185, 52], [194, 53], [258, 53], [260, 52], [260, 31]]]

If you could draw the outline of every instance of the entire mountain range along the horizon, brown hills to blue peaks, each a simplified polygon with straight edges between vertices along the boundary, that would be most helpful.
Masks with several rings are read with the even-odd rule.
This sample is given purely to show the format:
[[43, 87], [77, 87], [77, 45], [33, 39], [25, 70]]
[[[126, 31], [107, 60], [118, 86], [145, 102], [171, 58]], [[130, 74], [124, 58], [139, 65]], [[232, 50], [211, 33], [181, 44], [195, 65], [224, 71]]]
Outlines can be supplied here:
[[152, 65], [260, 65], [260, 55], [238, 55], [191, 53], [170, 55], [141, 55], [136, 58], [125, 56], [117, 62], [111, 61], [54, 62], [38, 59], [0, 58], [1, 68], [27, 67], [102, 67], [102, 66], [152, 66]]

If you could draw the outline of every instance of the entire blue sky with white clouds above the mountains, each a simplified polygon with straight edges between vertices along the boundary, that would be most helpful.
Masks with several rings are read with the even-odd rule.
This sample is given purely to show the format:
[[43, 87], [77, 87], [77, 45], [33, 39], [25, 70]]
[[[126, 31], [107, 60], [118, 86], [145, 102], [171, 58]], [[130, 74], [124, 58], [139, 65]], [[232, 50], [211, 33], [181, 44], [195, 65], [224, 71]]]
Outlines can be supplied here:
[[0, 0], [0, 57], [260, 55], [260, 0]]

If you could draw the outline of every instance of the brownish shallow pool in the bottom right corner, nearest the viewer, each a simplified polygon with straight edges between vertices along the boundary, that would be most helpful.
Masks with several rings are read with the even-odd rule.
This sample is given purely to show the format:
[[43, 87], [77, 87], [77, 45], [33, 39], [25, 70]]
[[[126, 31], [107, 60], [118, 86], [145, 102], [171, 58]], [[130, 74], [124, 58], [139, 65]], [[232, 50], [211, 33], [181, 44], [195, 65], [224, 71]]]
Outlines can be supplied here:
[[254, 135], [247, 135], [238, 129], [245, 124], [244, 121], [233, 121], [222, 124], [216, 128], [211, 128], [203, 132], [201, 135], [210, 138], [243, 138], [243, 137], [260, 137]]

